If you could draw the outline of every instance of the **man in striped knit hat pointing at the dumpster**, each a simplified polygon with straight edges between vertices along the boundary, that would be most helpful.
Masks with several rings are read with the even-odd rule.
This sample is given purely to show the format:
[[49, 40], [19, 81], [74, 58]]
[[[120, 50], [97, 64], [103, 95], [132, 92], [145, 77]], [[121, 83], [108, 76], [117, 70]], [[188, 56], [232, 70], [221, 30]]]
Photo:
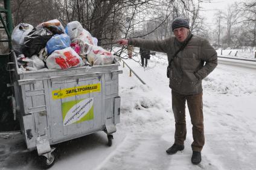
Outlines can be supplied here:
[[170, 69], [172, 108], [175, 119], [174, 144], [167, 154], [184, 150], [186, 139], [185, 102], [187, 101], [193, 125], [193, 154], [191, 162], [201, 162], [201, 151], [205, 143], [203, 133], [202, 80], [217, 66], [217, 53], [210, 43], [190, 32], [188, 20], [176, 17], [171, 24], [174, 37], [165, 40], [121, 39], [120, 45], [133, 45], [152, 51], [167, 53]]

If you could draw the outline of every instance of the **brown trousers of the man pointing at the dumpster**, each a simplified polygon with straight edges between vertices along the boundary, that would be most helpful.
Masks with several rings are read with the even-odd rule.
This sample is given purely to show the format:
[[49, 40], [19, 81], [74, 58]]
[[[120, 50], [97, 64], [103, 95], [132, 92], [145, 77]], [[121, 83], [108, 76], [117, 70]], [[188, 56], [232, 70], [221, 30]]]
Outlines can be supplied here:
[[205, 143], [203, 134], [203, 93], [196, 95], [181, 95], [171, 91], [173, 114], [175, 119], [174, 143], [184, 145], [186, 139], [186, 119], [185, 119], [185, 102], [187, 101], [188, 110], [190, 112], [191, 123], [193, 125], [193, 143], [191, 144], [193, 151], [201, 151]]

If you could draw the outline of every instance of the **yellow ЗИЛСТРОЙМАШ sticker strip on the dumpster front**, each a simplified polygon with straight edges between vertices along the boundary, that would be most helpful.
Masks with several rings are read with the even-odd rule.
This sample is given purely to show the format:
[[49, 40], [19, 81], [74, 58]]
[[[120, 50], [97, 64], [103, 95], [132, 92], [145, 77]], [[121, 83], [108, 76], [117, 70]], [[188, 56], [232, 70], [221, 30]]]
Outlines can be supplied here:
[[66, 89], [53, 90], [53, 99], [67, 98], [75, 95], [83, 95], [86, 93], [100, 92], [100, 83], [89, 84], [87, 86], [70, 87]]

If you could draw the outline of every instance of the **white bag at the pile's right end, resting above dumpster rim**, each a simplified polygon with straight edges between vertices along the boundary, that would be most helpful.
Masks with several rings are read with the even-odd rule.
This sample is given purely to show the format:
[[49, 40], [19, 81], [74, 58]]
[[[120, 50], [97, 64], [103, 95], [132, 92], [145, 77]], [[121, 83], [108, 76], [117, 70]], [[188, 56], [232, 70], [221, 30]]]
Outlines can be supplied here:
[[87, 58], [91, 65], [110, 65], [114, 61], [114, 55], [100, 46], [92, 46]]

